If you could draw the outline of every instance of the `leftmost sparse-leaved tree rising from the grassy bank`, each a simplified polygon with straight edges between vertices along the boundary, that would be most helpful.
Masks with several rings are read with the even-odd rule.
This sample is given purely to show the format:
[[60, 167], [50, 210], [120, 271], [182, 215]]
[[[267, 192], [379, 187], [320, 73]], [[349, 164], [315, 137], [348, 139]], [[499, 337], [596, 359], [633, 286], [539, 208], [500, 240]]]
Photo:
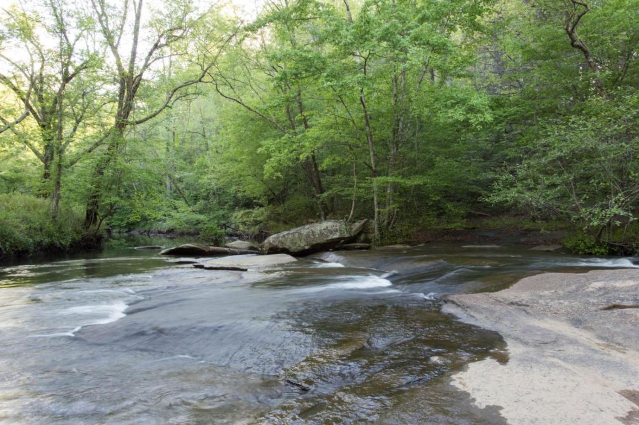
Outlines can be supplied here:
[[[41, 6], [49, 19], [17, 8], [3, 11], [8, 17], [5, 41], [15, 43], [13, 48], [22, 48], [22, 53], [0, 53], [0, 60], [11, 70], [10, 74], [0, 73], [0, 83], [24, 105], [24, 112], [12, 123], [2, 121], [4, 130], [11, 130], [42, 162], [44, 186], [40, 195], [52, 194], [52, 218], [56, 220], [64, 156], [90, 105], [87, 88], [78, 81], [95, 66], [96, 52], [82, 43], [91, 25], [81, 9], [73, 8], [77, 5], [49, 0]], [[27, 128], [17, 126], [27, 117], [36, 123], [40, 146], [31, 140]]]

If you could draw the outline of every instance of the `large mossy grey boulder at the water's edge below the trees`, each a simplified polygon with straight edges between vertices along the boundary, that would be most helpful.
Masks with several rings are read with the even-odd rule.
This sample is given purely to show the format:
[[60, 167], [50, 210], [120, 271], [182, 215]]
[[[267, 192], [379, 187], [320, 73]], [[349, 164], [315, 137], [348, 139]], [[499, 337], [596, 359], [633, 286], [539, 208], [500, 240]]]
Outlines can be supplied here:
[[343, 220], [325, 220], [272, 235], [262, 244], [264, 253], [291, 253], [305, 255], [317, 251], [339, 248], [355, 240], [367, 220], [346, 223]]

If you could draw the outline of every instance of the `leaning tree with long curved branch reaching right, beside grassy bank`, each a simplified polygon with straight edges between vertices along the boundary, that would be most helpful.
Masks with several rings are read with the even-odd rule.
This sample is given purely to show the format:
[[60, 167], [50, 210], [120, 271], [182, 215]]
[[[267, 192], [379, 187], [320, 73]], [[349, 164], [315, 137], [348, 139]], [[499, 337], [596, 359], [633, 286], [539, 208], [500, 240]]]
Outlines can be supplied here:
[[[189, 35], [194, 31], [199, 20], [208, 14], [208, 11], [198, 14], [190, 2], [167, 1], [162, 14], [158, 13], [146, 26], [151, 45], [146, 48], [144, 54], [139, 54], [139, 50], [142, 49], [141, 37], [144, 34], [142, 3], [143, 0], [133, 0], [117, 9], [108, 4], [107, 0], [91, 0], [102, 38], [115, 65], [111, 72], [116, 82], [116, 85], [112, 87], [116, 107], [111, 126], [86, 151], [90, 153], [103, 144], [106, 145], [91, 177], [91, 191], [86, 206], [85, 226], [87, 228], [98, 223], [105, 171], [116, 158], [125, 140], [125, 129], [128, 126], [150, 121], [164, 109], [171, 107], [175, 101], [190, 96], [185, 89], [202, 82], [217, 59], [215, 56], [208, 64], [201, 64], [193, 77], [171, 84], [171, 87], [167, 88], [164, 101], [155, 110], [143, 112], [141, 117], [133, 117], [144, 77], [153, 70], [155, 64], [163, 59], [185, 56], [185, 50], [189, 46]], [[132, 17], [129, 15], [130, 12], [133, 13]], [[131, 45], [123, 45], [122, 41], [129, 37]], [[128, 53], [123, 53], [127, 47]]]

